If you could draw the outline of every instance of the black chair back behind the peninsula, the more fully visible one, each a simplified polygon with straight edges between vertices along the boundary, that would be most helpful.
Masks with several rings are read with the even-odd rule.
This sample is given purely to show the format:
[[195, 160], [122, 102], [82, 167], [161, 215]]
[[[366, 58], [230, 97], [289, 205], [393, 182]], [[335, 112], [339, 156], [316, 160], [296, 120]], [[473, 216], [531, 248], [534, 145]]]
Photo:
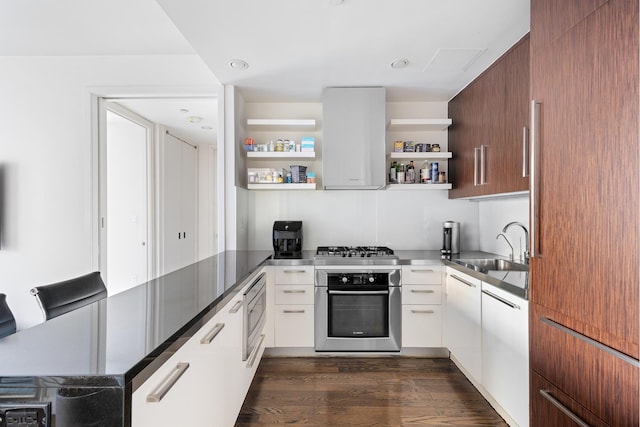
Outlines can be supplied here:
[[107, 288], [99, 271], [52, 285], [31, 289], [46, 320], [58, 317], [107, 297]]

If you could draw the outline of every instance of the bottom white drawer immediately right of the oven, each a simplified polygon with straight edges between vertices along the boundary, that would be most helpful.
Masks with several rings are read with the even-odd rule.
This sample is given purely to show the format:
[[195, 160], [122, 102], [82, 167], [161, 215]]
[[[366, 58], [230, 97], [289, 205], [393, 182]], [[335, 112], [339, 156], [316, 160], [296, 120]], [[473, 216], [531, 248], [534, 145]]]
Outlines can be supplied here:
[[442, 347], [442, 307], [403, 305], [402, 346]]

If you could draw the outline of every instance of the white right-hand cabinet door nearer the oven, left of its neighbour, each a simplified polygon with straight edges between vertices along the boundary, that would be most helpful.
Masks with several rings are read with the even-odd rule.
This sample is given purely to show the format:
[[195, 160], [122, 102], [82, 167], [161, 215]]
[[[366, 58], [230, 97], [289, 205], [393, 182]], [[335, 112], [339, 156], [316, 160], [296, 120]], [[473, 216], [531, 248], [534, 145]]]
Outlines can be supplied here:
[[481, 281], [447, 267], [446, 342], [451, 356], [476, 383], [482, 380]]

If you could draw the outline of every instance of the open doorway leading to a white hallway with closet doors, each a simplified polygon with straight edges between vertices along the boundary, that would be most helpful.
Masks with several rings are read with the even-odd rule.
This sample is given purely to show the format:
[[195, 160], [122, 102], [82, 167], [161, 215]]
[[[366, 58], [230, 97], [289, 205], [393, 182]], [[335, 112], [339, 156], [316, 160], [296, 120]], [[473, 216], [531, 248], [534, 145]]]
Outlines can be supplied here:
[[[223, 172], [217, 156], [218, 98], [96, 98], [99, 269], [109, 294], [183, 266], [172, 261], [176, 250], [167, 236], [179, 232], [178, 244], [184, 236], [195, 243], [187, 264], [218, 253], [218, 178]], [[169, 233], [175, 224], [172, 212], [185, 204], [175, 196], [180, 191], [171, 192], [179, 181], [173, 176], [176, 164], [181, 164], [173, 148], [180, 146], [195, 152], [186, 162], [191, 166], [181, 166], [195, 188], [189, 199], [195, 228]]]

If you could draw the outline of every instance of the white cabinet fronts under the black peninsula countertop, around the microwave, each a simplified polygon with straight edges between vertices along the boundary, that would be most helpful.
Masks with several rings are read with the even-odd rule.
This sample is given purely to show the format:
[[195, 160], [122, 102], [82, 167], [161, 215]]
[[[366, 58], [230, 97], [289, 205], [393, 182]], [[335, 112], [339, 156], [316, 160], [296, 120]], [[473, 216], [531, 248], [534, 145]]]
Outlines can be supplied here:
[[133, 393], [132, 427], [235, 424], [265, 347], [242, 360], [243, 315], [241, 291]]

